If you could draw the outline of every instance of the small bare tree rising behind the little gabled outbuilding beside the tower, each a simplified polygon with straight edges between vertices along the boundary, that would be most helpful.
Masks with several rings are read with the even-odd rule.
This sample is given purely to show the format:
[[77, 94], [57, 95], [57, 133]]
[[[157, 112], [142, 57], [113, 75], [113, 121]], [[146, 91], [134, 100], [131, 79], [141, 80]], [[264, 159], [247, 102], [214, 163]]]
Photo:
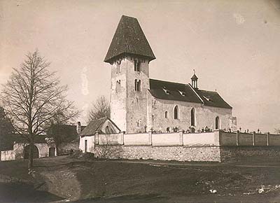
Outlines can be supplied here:
[[110, 105], [106, 97], [102, 95], [92, 104], [92, 109], [87, 117], [87, 123], [104, 117], [110, 118]]

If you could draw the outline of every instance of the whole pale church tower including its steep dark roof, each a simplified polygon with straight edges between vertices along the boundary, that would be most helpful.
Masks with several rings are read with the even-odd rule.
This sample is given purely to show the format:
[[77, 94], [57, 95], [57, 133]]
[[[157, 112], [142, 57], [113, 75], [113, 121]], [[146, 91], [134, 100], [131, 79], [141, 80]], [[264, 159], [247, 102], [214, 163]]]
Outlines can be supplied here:
[[153, 59], [138, 20], [123, 15], [104, 62], [111, 64], [111, 120], [127, 133], [146, 130], [149, 63]]

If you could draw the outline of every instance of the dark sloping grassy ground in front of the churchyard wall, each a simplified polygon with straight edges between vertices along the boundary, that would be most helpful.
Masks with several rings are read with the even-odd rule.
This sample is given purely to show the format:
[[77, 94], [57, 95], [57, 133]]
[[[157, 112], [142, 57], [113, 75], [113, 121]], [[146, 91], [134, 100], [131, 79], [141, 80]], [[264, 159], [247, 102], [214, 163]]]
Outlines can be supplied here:
[[43, 158], [35, 161], [33, 176], [27, 162], [0, 162], [1, 176], [15, 180], [0, 184], [0, 200], [280, 202], [280, 162], [263, 160], [219, 164]]

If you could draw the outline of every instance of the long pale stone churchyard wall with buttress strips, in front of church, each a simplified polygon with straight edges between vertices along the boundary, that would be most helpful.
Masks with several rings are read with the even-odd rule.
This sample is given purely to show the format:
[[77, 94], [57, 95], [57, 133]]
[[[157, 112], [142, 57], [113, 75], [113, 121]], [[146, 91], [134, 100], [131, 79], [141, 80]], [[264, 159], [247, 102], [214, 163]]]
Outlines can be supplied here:
[[242, 157], [260, 156], [265, 159], [280, 155], [280, 135], [276, 134], [222, 131], [200, 134], [184, 134], [182, 131], [169, 134], [96, 134], [80, 137], [80, 150], [83, 152], [86, 139], [90, 144], [87, 152], [112, 159], [224, 162]]

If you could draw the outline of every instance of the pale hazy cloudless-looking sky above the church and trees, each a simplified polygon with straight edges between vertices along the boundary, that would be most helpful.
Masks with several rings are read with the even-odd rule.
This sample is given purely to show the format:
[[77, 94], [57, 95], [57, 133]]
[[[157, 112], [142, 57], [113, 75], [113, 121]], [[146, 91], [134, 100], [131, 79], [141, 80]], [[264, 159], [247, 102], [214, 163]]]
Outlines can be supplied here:
[[3, 1], [0, 0], [0, 83], [27, 52], [52, 62], [69, 99], [85, 115], [110, 95], [103, 62], [121, 15], [139, 20], [157, 59], [150, 76], [217, 90], [237, 127], [280, 128], [279, 1]]

